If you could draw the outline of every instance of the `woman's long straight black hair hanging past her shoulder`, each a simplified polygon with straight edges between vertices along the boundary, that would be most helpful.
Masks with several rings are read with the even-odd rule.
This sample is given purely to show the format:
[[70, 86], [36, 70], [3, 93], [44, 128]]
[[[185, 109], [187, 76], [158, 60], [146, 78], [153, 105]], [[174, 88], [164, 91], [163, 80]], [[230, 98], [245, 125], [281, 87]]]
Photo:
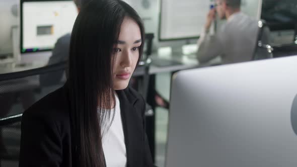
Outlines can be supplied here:
[[[125, 17], [134, 20], [144, 44], [138, 14], [121, 0], [93, 0], [85, 5], [73, 26], [69, 51], [68, 89], [72, 156], [80, 166], [104, 166], [102, 127], [115, 103], [112, 70], [114, 47]], [[137, 63], [138, 64], [138, 63]]]

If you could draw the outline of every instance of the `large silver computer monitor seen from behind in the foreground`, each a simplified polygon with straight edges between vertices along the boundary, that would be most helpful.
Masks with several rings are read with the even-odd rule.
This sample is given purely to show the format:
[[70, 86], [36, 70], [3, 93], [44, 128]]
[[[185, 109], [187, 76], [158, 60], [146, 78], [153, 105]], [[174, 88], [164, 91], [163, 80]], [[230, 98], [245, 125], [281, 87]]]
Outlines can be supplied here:
[[292, 56], [177, 73], [166, 167], [297, 166], [296, 64]]

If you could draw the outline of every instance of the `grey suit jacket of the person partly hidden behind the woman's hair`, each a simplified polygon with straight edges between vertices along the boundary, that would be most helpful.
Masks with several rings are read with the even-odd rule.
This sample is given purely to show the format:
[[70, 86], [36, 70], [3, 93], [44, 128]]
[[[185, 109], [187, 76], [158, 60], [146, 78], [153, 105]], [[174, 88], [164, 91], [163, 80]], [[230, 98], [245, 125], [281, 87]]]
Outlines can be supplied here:
[[[70, 46], [71, 35], [65, 34], [60, 37], [55, 43], [52, 55], [49, 58], [48, 65], [56, 64], [62, 61], [68, 61], [69, 57], [69, 46]], [[58, 84], [62, 79], [65, 71], [56, 71], [40, 75], [40, 85], [49, 86]]]

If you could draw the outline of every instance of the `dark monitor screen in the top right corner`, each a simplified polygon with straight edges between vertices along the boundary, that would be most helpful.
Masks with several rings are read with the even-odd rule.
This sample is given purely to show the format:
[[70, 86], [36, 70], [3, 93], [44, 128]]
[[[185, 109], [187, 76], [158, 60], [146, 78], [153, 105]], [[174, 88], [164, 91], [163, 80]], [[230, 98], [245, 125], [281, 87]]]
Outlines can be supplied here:
[[297, 1], [263, 0], [261, 19], [267, 22], [272, 31], [294, 30], [297, 24]]

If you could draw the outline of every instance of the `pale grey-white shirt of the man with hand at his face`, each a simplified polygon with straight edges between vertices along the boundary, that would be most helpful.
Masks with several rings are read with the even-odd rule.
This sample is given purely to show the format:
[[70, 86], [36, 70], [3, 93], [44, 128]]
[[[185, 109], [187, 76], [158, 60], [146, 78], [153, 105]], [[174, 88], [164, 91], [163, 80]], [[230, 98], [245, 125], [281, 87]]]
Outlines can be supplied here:
[[[257, 20], [241, 12], [233, 14], [216, 34], [201, 35], [198, 40], [198, 61], [204, 63], [217, 56], [221, 56], [222, 64], [250, 61], [258, 32]], [[269, 31], [264, 31], [262, 36], [263, 43], [269, 44]]]

